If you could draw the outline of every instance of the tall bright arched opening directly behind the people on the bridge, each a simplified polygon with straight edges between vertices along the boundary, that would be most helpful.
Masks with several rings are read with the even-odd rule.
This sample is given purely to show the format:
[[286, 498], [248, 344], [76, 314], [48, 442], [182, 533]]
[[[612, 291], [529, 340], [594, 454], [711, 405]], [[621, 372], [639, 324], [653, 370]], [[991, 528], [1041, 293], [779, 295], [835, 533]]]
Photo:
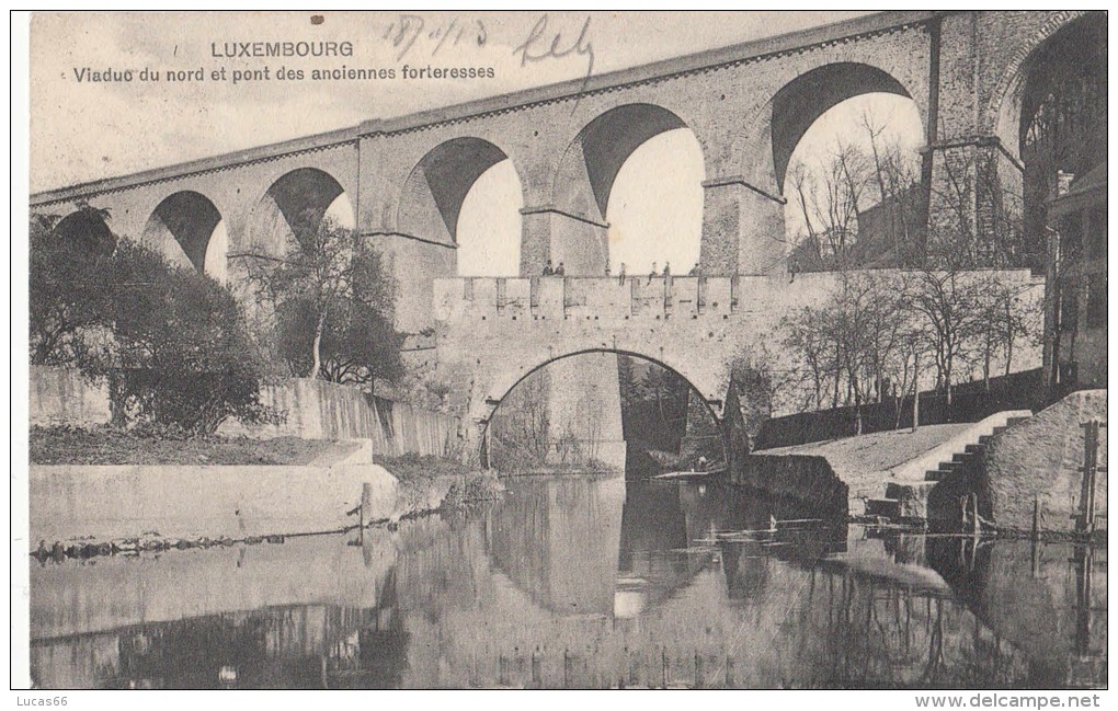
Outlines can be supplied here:
[[[704, 179], [702, 146], [682, 118], [652, 104], [612, 108], [587, 124], [568, 149], [555, 202], [608, 225], [596, 269], [612, 274], [685, 274], [699, 262]], [[587, 189], [588, 188], [588, 189]]]

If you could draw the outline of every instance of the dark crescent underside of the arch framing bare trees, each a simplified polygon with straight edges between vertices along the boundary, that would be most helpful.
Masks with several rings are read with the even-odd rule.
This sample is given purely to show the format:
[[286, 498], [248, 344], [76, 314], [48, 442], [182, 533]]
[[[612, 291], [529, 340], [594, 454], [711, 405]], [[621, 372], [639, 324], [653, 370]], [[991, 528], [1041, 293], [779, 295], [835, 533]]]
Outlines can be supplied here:
[[842, 61], [803, 74], [773, 97], [773, 164], [777, 189], [784, 191], [788, 161], [807, 130], [831, 107], [862, 94], [911, 94], [885, 72], [866, 64]]

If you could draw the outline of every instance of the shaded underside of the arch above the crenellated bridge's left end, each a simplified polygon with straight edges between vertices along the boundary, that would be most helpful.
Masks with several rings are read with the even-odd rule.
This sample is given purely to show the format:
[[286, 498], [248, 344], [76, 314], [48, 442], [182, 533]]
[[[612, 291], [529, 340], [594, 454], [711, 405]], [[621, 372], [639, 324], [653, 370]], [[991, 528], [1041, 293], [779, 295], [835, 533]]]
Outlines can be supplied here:
[[436, 145], [416, 164], [404, 183], [397, 227], [407, 235], [456, 244], [458, 214], [482, 173], [506, 160], [504, 151], [475, 138]]

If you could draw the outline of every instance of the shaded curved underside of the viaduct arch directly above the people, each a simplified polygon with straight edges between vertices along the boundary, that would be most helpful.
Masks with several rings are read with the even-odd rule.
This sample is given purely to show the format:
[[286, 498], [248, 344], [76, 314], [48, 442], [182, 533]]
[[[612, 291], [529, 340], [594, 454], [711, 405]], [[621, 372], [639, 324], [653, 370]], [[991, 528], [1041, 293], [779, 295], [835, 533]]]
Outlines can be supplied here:
[[[590, 121], [563, 154], [556, 176], [555, 203], [575, 215], [604, 219], [614, 180], [633, 151], [661, 133], [685, 127], [678, 115], [653, 104], [610, 108]], [[591, 196], [571, 190], [587, 182]]]

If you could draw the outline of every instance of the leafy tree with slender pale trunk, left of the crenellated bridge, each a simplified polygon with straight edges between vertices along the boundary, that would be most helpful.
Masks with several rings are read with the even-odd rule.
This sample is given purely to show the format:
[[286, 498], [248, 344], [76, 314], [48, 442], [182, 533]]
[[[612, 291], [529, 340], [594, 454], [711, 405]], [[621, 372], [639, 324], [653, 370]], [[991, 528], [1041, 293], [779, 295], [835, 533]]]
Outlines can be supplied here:
[[380, 253], [331, 219], [306, 215], [283, 255], [233, 255], [269, 304], [292, 372], [366, 385], [402, 375], [392, 326], [396, 286]]

